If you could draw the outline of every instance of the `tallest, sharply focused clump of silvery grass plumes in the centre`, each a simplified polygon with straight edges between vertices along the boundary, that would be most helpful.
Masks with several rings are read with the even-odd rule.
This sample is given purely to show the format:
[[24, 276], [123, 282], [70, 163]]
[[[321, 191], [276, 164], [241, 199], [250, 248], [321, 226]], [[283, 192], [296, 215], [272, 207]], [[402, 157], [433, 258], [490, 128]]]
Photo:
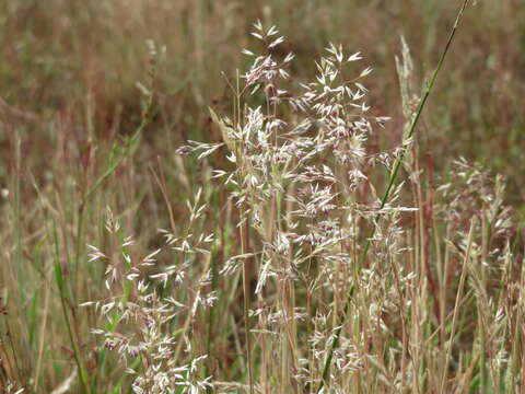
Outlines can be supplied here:
[[[258, 266], [257, 305], [250, 310], [258, 321], [252, 335], [262, 359], [258, 387], [266, 392], [269, 381], [279, 381], [289, 392], [302, 392], [320, 379], [335, 322], [351, 287], [364, 289], [362, 297], [369, 300], [359, 308], [366, 305], [369, 318], [387, 329], [382, 322], [385, 310], [397, 313], [399, 306], [387, 300], [393, 290], [386, 291], [380, 266], [393, 253], [406, 253], [398, 222], [402, 211], [412, 209], [396, 206], [399, 188], [378, 209], [369, 173], [376, 164], [388, 171], [399, 150], [368, 152], [374, 126], [384, 127], [388, 118], [371, 115], [364, 78], [372, 69], [359, 67], [361, 54], [330, 44], [315, 63], [315, 80], [302, 83], [295, 95], [288, 71], [293, 54], [280, 60], [275, 50], [282, 36], [275, 26], [265, 30], [260, 23], [253, 35], [264, 50], [243, 50], [253, 63], [242, 76], [244, 83], [230, 83], [238, 86], [232, 88], [233, 117], [210, 109], [223, 142], [190, 141], [178, 153], [195, 152], [203, 159], [228, 148], [233, 170], [218, 169], [214, 176], [223, 179], [240, 208], [238, 227], [249, 224], [257, 237], [254, 250], [229, 258], [222, 274], [232, 275], [247, 260]], [[373, 252], [381, 258], [357, 274], [359, 241], [365, 236], [363, 229], [378, 225], [377, 215], [387, 219], [374, 237]], [[412, 276], [402, 269], [396, 274], [396, 290], [405, 291]], [[299, 299], [306, 301], [300, 304]], [[326, 389], [341, 393], [348, 376], [364, 368], [368, 358], [364, 338], [346, 334]], [[271, 355], [279, 355], [280, 362], [271, 362]]]

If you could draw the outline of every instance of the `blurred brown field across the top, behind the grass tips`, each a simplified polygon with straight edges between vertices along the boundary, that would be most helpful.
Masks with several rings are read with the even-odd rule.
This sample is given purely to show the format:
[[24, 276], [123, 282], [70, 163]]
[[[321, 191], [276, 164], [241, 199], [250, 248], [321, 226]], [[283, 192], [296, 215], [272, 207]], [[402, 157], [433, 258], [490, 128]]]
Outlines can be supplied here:
[[[399, 37], [411, 49], [419, 86], [439, 59], [458, 5], [454, 0], [2, 0], [0, 182], [9, 182], [13, 165], [13, 128], [35, 176], [52, 170], [58, 135], [74, 141], [61, 159], [78, 161], [95, 140], [130, 132], [141, 113], [136, 83], [148, 78], [147, 39], [165, 46], [166, 54], [145, 147], [167, 158], [184, 139], [206, 140], [207, 107], [231, 102], [221, 71], [234, 77], [236, 68], [246, 68], [241, 49], [254, 44], [248, 33], [257, 19], [285, 36], [283, 47], [296, 55], [298, 80], [314, 73], [311, 60], [328, 42], [361, 50], [374, 68], [371, 103], [394, 118], [385, 143], [399, 142], [394, 60]], [[520, 0], [480, 0], [466, 14], [425, 111], [421, 151], [430, 150], [440, 166], [458, 155], [486, 163], [509, 177], [509, 198], [520, 204], [524, 93], [525, 9]]]

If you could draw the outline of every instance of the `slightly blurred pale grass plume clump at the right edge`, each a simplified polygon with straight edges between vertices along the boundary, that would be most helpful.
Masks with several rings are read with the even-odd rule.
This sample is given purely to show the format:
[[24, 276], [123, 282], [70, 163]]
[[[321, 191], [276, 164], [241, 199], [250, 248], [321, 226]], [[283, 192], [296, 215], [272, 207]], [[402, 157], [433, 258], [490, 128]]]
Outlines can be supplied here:
[[[471, 346], [478, 355], [481, 390], [521, 392], [525, 375], [517, 373], [520, 369], [523, 371], [523, 358], [517, 355], [515, 340], [523, 336], [523, 328], [516, 324], [523, 322], [525, 269], [523, 255], [522, 260], [516, 258], [518, 251], [512, 245], [515, 242], [512, 240], [516, 240], [516, 225], [511, 208], [504, 204], [504, 181], [500, 175], [492, 177], [480, 164], [470, 164], [462, 158], [454, 162], [448, 182], [438, 192], [442, 199], [436, 205], [436, 215], [446, 224], [447, 251], [441, 281], [448, 286], [459, 269], [456, 256], [466, 256], [464, 269], [468, 280], [465, 287], [470, 297], [465, 290], [465, 299], [476, 306], [474, 337], [474, 329], [458, 333], [457, 341]], [[467, 237], [472, 221], [477, 223], [477, 231]], [[442, 302], [446, 303], [445, 296]], [[442, 308], [441, 318], [444, 320], [445, 306]], [[457, 351], [452, 346], [451, 343], [450, 354]], [[456, 374], [462, 372], [462, 366], [457, 366]], [[460, 382], [457, 386], [463, 389]]]

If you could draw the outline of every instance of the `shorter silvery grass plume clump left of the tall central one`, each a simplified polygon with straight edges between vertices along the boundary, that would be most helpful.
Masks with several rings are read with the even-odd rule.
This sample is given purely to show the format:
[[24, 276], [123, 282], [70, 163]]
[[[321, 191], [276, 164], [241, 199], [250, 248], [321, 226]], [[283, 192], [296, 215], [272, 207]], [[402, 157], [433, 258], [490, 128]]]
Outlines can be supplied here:
[[[199, 202], [189, 205], [191, 220], [197, 220], [203, 210]], [[206, 355], [198, 355], [188, 339], [189, 322], [198, 308], [211, 308], [214, 293], [203, 289], [209, 285], [209, 269], [203, 267], [200, 279], [194, 282], [191, 297], [183, 281], [187, 276], [192, 256], [205, 255], [212, 236], [194, 236], [183, 233], [175, 236], [163, 231], [167, 246], [171, 246], [180, 259], [163, 268], [156, 267], [156, 256], [161, 250], [136, 258], [133, 239], [121, 240], [120, 225], [110, 211], [107, 213], [106, 230], [117, 244], [117, 252], [106, 255], [97, 247], [92, 250], [90, 262], [106, 265], [105, 285], [108, 297], [85, 302], [106, 320], [105, 327], [92, 329], [103, 337], [103, 348], [115, 352], [132, 376], [132, 391], [142, 393], [201, 393], [211, 387], [211, 376], [201, 376], [201, 364]], [[120, 241], [121, 240], [121, 241]], [[156, 273], [152, 274], [152, 271]], [[184, 323], [180, 323], [184, 322]], [[177, 324], [177, 335], [174, 325]], [[183, 354], [184, 352], [184, 354]]]

